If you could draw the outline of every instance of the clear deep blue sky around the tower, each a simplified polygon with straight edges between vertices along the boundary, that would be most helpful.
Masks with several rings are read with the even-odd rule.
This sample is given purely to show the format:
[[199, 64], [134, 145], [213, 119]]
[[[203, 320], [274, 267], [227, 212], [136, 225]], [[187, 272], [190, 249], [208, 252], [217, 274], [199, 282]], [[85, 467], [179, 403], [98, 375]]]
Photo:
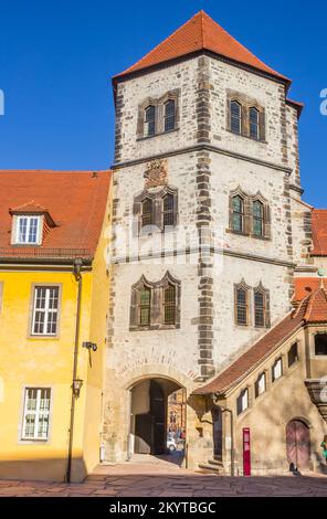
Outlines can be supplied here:
[[103, 169], [113, 160], [110, 76], [204, 9], [293, 78], [305, 200], [327, 206], [327, 15], [323, 2], [0, 0], [0, 169]]

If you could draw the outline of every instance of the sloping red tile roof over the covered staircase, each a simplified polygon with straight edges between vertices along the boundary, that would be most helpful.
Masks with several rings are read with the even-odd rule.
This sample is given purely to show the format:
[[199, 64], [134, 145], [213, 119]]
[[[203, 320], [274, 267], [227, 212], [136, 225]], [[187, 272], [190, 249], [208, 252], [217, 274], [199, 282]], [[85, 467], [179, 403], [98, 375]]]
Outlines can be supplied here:
[[318, 288], [303, 299], [296, 310], [274, 326], [245, 353], [194, 394], [223, 394], [259, 367], [274, 350], [305, 324], [327, 322], [327, 292]]

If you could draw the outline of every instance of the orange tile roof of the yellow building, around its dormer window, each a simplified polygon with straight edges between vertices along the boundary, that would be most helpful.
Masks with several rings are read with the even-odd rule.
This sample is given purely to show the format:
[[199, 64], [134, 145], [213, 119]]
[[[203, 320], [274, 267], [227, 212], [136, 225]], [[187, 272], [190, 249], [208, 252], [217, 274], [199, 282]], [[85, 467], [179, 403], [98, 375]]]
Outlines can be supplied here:
[[[0, 257], [92, 258], [105, 216], [109, 182], [110, 171], [0, 170]], [[55, 226], [44, 233], [42, 245], [11, 245], [11, 212], [29, 213], [44, 208]]]

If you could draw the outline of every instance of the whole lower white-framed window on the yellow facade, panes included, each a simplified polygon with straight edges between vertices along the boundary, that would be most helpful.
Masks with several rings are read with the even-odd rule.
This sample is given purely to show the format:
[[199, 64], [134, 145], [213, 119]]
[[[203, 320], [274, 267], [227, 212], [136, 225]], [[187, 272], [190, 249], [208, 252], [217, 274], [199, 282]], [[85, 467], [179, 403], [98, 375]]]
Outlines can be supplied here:
[[25, 389], [22, 439], [49, 439], [50, 403], [50, 388]]

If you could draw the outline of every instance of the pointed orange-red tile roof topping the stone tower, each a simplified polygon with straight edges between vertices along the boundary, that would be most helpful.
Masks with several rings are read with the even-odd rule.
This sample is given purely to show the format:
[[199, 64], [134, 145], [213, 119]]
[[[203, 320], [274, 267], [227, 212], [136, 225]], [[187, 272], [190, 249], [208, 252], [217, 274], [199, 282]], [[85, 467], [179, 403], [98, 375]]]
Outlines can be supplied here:
[[287, 77], [259, 60], [203, 11], [198, 12], [135, 65], [117, 74], [114, 80], [201, 50], [211, 51], [291, 83]]

